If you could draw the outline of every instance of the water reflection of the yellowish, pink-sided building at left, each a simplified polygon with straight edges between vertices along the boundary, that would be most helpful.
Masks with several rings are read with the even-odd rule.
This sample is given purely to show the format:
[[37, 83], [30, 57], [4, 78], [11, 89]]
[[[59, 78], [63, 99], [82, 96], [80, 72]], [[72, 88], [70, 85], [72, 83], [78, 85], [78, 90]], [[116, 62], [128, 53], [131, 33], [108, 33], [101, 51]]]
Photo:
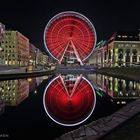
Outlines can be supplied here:
[[5, 105], [15, 106], [29, 95], [29, 82], [27, 80], [9, 80], [0, 82], [0, 96]]

